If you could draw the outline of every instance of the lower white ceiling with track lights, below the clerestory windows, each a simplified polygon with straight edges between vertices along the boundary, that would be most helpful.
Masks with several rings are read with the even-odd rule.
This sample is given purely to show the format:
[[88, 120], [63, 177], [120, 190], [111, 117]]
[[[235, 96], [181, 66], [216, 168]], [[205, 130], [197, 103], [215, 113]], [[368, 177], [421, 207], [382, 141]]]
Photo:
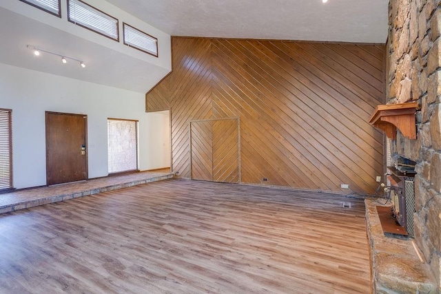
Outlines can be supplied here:
[[[168, 72], [163, 67], [121, 54], [1, 7], [0, 37], [3, 40], [0, 63], [90, 83], [145, 93]], [[26, 45], [81, 59], [86, 67], [81, 68], [79, 62], [69, 59], [68, 64], [62, 65], [59, 56], [44, 52], [36, 58]]]

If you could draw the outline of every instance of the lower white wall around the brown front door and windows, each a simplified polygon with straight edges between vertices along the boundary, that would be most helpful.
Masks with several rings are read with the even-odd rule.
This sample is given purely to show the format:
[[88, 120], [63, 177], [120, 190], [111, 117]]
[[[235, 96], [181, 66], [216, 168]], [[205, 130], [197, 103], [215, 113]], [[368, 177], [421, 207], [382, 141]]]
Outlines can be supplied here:
[[170, 118], [145, 96], [0, 63], [0, 108], [12, 109], [14, 188], [46, 184], [45, 111], [88, 116], [89, 178], [107, 176], [107, 118], [139, 120], [139, 169], [170, 167]]

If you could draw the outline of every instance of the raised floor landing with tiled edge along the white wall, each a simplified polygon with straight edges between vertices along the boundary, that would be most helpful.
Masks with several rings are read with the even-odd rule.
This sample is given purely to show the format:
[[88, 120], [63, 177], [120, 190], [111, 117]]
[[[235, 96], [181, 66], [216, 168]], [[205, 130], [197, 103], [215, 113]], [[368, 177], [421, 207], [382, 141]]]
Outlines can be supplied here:
[[146, 182], [165, 180], [167, 178], [173, 178], [173, 174], [169, 168], [12, 191], [10, 193], [0, 194], [0, 213], [28, 209], [105, 191], [142, 185]]

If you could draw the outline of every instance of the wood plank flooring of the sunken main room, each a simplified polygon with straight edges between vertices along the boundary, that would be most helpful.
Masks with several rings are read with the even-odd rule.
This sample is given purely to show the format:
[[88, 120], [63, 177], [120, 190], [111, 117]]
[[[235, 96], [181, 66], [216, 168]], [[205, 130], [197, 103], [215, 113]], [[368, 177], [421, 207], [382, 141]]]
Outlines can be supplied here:
[[0, 257], [0, 293], [370, 292], [364, 203], [291, 189], [172, 179], [6, 213]]

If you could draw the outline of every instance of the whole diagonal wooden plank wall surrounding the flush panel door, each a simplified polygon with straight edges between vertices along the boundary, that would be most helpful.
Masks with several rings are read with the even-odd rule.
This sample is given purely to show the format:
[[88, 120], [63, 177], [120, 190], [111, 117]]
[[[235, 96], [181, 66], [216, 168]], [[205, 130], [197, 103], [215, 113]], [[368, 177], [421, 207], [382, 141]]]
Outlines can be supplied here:
[[[173, 72], [146, 94], [171, 110], [172, 169], [190, 177], [190, 120], [240, 117], [242, 182], [372, 193], [384, 45], [173, 37]], [[263, 182], [267, 178], [267, 182]]]

